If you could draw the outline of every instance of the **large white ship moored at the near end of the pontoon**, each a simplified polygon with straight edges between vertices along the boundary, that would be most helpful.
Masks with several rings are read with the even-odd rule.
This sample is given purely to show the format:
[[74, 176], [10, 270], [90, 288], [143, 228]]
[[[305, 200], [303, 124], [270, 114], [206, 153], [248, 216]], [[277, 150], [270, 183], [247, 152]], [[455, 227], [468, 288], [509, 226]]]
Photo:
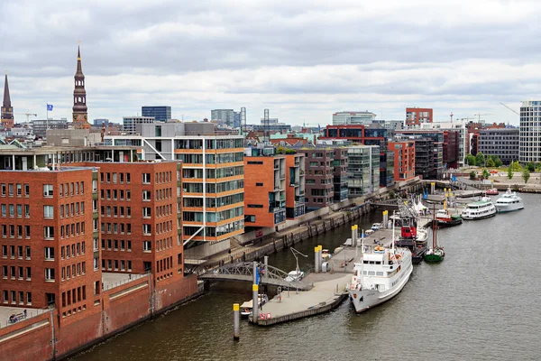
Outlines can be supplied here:
[[392, 248], [376, 245], [365, 250], [362, 245], [362, 258], [355, 263], [352, 282], [348, 284], [355, 311], [368, 310], [396, 296], [412, 270], [411, 252], [408, 248], [395, 248], [394, 239]]

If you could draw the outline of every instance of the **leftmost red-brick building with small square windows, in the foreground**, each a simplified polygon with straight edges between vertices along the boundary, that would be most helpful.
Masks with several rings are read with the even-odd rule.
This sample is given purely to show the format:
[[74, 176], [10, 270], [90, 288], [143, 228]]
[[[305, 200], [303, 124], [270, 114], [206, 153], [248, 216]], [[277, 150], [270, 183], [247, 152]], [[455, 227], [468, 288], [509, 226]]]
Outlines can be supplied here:
[[93, 232], [97, 171], [45, 165], [48, 155], [0, 150], [2, 304], [55, 305], [60, 322], [101, 302], [100, 251]]

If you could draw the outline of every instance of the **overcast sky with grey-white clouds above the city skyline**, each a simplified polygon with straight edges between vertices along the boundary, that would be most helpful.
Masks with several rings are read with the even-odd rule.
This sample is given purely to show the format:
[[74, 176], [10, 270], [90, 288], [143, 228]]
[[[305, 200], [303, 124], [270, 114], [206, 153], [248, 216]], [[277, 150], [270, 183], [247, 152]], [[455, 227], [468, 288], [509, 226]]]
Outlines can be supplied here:
[[246, 106], [248, 123], [269, 108], [326, 125], [419, 106], [518, 124], [500, 102], [541, 97], [540, 17], [527, 0], [2, 0], [0, 67], [14, 111], [39, 116], [71, 117], [80, 40], [89, 119]]

